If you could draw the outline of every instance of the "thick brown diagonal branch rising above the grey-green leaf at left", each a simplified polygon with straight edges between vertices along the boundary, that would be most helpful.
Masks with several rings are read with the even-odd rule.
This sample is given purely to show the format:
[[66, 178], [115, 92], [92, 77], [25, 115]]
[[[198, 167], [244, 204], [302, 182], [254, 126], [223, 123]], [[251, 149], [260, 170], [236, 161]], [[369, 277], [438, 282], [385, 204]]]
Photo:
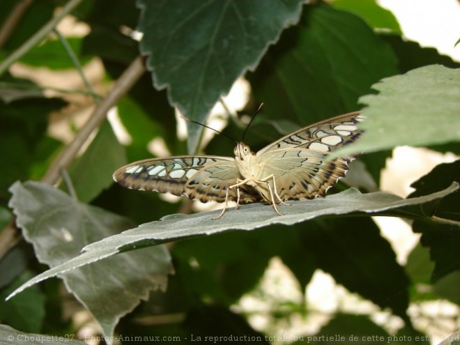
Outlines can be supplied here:
[[93, 130], [99, 128], [102, 121], [105, 120], [107, 112], [116, 105], [116, 102], [118, 102], [125, 93], [131, 89], [132, 85], [137, 82], [137, 79], [139, 79], [144, 72], [144, 59], [141, 56], [138, 56], [134, 61], [132, 61], [125, 72], [123, 72], [123, 75], [118, 78], [112, 91], [104, 98], [104, 100], [102, 100], [102, 102], [100, 102], [98, 107], [94, 109], [94, 112], [91, 114], [88, 122], [86, 122], [83, 128], [79, 130], [72, 142], [63, 148], [63, 151], [61, 151], [56, 160], [52, 162], [45, 176], [42, 178], [43, 183], [54, 185], [57, 181], [59, 181], [61, 169], [68, 168], [69, 164], [72, 160], [74, 160], [79, 149], [89, 138]]

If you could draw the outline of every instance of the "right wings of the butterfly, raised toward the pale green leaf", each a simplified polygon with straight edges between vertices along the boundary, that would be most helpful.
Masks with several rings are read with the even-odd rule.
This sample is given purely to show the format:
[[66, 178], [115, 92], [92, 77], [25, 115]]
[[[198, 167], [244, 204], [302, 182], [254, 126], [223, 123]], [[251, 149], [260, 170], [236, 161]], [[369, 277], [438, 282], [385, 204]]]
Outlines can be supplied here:
[[261, 176], [273, 174], [282, 200], [323, 196], [348, 171], [351, 156], [328, 159], [330, 152], [358, 139], [359, 112], [309, 125], [256, 153]]

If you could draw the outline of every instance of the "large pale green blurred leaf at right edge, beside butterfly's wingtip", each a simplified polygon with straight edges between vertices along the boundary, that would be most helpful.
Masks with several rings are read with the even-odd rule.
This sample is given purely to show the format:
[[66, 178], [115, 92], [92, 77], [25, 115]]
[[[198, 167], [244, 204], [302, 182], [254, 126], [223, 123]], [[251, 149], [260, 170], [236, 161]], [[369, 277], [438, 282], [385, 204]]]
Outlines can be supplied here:
[[427, 146], [460, 141], [460, 69], [426, 66], [374, 84], [365, 95], [367, 117], [360, 140], [335, 155], [398, 145]]

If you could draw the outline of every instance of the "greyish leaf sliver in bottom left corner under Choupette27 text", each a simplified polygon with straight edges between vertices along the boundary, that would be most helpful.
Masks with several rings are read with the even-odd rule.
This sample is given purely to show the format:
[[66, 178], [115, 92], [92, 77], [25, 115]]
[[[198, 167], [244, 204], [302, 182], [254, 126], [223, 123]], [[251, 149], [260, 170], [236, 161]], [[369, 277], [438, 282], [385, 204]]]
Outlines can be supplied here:
[[85, 342], [73, 339], [74, 335], [52, 336], [20, 332], [9, 325], [0, 325], [1, 345], [86, 345]]

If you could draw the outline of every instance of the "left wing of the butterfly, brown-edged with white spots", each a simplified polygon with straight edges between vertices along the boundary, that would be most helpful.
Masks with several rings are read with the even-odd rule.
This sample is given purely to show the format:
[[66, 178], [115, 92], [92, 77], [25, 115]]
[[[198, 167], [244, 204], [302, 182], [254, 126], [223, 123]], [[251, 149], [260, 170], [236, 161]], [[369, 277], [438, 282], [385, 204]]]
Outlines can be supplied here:
[[[240, 177], [233, 158], [206, 155], [140, 160], [114, 173], [114, 180], [123, 187], [186, 195], [202, 202], [225, 201], [227, 187]], [[229, 199], [236, 200], [235, 190], [229, 190]], [[252, 188], [240, 188], [241, 201], [259, 199]]]

